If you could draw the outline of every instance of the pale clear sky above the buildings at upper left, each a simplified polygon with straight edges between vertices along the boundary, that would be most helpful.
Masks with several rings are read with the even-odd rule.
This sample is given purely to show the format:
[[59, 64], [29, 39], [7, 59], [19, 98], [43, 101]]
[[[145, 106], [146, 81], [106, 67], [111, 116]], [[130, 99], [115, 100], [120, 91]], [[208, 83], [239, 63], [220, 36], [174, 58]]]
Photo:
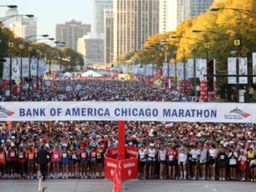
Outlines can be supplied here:
[[[93, 0], [1, 0], [0, 5], [17, 5], [19, 14], [35, 15], [37, 35], [56, 38], [56, 24], [65, 24], [72, 19], [91, 24], [93, 31]], [[0, 18], [7, 10], [7, 7], [0, 7]]]

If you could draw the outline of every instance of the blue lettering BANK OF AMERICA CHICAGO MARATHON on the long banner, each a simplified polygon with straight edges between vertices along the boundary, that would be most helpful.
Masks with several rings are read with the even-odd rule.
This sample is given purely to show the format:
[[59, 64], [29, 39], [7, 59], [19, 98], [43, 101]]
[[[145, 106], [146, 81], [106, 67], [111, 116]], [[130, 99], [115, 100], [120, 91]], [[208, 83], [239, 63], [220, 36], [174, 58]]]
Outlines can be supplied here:
[[[208, 109], [166, 109], [163, 108], [163, 117], [167, 118], [217, 118], [217, 110]], [[114, 108], [113, 114], [109, 108], [20, 108], [20, 117], [43, 117], [49, 115], [66, 117], [158, 117], [160, 109], [158, 108]]]

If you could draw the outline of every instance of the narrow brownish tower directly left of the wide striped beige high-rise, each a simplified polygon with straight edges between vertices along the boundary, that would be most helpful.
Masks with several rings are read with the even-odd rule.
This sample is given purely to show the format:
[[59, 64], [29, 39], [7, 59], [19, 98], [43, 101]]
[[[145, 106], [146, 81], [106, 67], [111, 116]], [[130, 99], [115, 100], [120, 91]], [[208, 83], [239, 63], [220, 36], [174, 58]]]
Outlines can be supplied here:
[[104, 64], [111, 66], [113, 59], [113, 8], [104, 8]]

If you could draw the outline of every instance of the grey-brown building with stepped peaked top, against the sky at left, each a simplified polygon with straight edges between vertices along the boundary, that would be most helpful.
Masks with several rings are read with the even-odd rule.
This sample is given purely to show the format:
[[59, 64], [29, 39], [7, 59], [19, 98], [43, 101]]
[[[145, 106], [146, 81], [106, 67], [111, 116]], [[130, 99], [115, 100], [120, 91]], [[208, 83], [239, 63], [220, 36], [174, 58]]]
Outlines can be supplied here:
[[77, 41], [83, 38], [91, 31], [91, 25], [82, 24], [82, 22], [66, 22], [65, 24], [56, 25], [56, 41], [66, 42], [67, 48], [72, 48], [76, 51]]

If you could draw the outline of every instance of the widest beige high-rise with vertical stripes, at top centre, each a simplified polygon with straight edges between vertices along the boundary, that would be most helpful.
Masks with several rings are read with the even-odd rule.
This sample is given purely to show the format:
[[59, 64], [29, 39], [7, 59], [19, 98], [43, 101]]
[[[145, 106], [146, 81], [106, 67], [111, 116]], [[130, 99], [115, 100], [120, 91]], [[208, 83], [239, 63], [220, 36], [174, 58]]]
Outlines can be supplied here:
[[113, 58], [140, 50], [159, 32], [159, 0], [114, 0]]

